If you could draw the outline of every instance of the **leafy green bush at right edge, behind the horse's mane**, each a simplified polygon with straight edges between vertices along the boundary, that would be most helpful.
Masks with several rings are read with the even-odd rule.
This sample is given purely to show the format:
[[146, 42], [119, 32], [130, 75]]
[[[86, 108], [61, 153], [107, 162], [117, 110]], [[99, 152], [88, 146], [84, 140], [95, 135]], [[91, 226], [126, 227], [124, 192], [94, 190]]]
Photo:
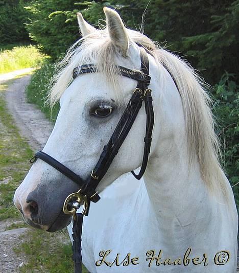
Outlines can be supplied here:
[[[215, 85], [217, 101], [213, 108], [223, 144], [223, 165], [232, 186], [239, 181], [239, 85], [233, 80], [234, 75], [225, 73]], [[239, 204], [239, 187], [233, 190]]]

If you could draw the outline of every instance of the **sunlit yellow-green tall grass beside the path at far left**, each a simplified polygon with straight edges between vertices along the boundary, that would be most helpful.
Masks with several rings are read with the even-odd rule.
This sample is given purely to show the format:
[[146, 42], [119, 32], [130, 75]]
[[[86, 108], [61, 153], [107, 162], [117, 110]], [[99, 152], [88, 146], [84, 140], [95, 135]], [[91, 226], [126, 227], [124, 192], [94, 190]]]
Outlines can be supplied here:
[[46, 58], [33, 45], [13, 47], [0, 52], [0, 74], [39, 66]]

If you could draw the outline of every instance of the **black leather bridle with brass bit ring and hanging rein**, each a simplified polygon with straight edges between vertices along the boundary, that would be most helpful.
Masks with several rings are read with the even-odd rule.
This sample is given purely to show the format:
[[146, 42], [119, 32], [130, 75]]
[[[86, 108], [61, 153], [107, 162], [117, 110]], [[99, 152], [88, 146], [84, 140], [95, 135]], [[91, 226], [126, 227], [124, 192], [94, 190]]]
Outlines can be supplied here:
[[[126, 106], [126, 109], [118, 122], [114, 132], [107, 145], [104, 146], [103, 152], [99, 158], [98, 163], [95, 165], [91, 172], [91, 175], [86, 180], [83, 180], [78, 174], [71, 171], [69, 168], [55, 160], [49, 154], [42, 151], [37, 151], [31, 162], [35, 162], [37, 158], [51, 165], [59, 172], [67, 176], [69, 179], [79, 185], [80, 190], [77, 193], [70, 194], [63, 206], [63, 211], [66, 214], [73, 215], [73, 250], [74, 250], [74, 263], [75, 272], [81, 272], [81, 232], [82, 232], [82, 221], [83, 216], [88, 215], [90, 201], [97, 202], [100, 199], [98, 192], [96, 191], [97, 186], [109, 169], [114, 157], [118, 150], [125, 141], [136, 117], [139, 109], [142, 106], [142, 102], [145, 102], [146, 110], [146, 133], [145, 133], [145, 146], [144, 155], [142, 158], [141, 169], [138, 174], [132, 171], [135, 178], [140, 179], [144, 175], [152, 141], [152, 130], [154, 125], [154, 111], [152, 104], [151, 89], [148, 88], [150, 84], [149, 76], [149, 60], [145, 52], [145, 49], [140, 48], [140, 60], [141, 68], [140, 71], [130, 70], [123, 66], [117, 66], [118, 72], [122, 76], [137, 81], [137, 86], [133, 92], [133, 95]], [[85, 73], [97, 73], [97, 67], [94, 64], [85, 64], [80, 67], [76, 67], [73, 70], [73, 79], [81, 74]], [[82, 213], [77, 213], [77, 209], [80, 204], [84, 204], [84, 210]]]

